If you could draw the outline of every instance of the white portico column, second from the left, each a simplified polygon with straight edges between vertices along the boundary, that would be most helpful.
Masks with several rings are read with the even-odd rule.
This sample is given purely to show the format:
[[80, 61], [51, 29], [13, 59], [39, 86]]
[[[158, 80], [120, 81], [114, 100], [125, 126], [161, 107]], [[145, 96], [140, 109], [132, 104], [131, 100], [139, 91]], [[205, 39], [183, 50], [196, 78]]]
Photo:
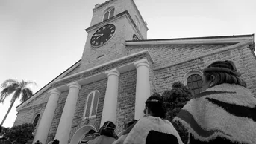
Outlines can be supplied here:
[[73, 116], [75, 114], [76, 102], [78, 100], [79, 90], [81, 85], [73, 82], [68, 85], [69, 94], [66, 98], [65, 106], [61, 114], [60, 123], [57, 127], [55, 139], [60, 140], [60, 144], [66, 144], [69, 140], [69, 132], [72, 125]]

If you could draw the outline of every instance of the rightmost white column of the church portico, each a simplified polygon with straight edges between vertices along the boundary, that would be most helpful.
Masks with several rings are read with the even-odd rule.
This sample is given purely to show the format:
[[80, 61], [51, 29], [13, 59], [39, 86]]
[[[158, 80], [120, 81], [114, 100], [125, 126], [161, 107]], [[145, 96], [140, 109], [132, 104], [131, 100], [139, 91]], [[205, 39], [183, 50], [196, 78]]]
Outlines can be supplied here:
[[149, 62], [146, 59], [134, 62], [137, 68], [136, 96], [135, 96], [135, 117], [139, 120], [143, 118], [146, 99], [150, 96], [149, 83]]

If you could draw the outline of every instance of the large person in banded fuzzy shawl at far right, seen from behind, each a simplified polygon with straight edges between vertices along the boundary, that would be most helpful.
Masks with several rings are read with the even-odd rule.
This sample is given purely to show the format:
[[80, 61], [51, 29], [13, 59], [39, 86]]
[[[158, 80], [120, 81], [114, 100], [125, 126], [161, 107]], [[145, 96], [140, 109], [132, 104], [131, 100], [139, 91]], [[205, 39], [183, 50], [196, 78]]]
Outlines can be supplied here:
[[232, 61], [203, 70], [203, 92], [173, 120], [190, 132], [190, 144], [256, 143], [256, 99], [240, 76]]

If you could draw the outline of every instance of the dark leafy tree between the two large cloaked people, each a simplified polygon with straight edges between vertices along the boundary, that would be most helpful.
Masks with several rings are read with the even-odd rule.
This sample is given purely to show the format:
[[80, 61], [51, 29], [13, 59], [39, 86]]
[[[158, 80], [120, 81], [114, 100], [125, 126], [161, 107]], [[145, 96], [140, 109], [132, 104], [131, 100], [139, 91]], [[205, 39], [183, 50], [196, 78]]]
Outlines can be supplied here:
[[[166, 119], [172, 122], [172, 119], [176, 117], [181, 108], [186, 105], [187, 101], [192, 98], [192, 94], [189, 89], [181, 82], [174, 82], [171, 90], [166, 90], [162, 94], [164, 102], [166, 103]], [[188, 134], [185, 128], [179, 122], [172, 122], [178, 134], [181, 136], [181, 140], [187, 143]]]

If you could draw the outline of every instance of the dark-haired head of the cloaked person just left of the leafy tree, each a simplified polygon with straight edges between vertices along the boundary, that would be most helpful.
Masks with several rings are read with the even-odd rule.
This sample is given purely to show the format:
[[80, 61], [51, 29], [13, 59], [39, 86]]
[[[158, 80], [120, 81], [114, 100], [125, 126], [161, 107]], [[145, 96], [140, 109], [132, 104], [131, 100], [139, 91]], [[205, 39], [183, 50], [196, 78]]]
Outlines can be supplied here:
[[166, 118], [166, 108], [160, 94], [154, 93], [146, 100], [145, 104], [146, 108], [149, 108], [149, 111], [152, 112], [153, 117]]

